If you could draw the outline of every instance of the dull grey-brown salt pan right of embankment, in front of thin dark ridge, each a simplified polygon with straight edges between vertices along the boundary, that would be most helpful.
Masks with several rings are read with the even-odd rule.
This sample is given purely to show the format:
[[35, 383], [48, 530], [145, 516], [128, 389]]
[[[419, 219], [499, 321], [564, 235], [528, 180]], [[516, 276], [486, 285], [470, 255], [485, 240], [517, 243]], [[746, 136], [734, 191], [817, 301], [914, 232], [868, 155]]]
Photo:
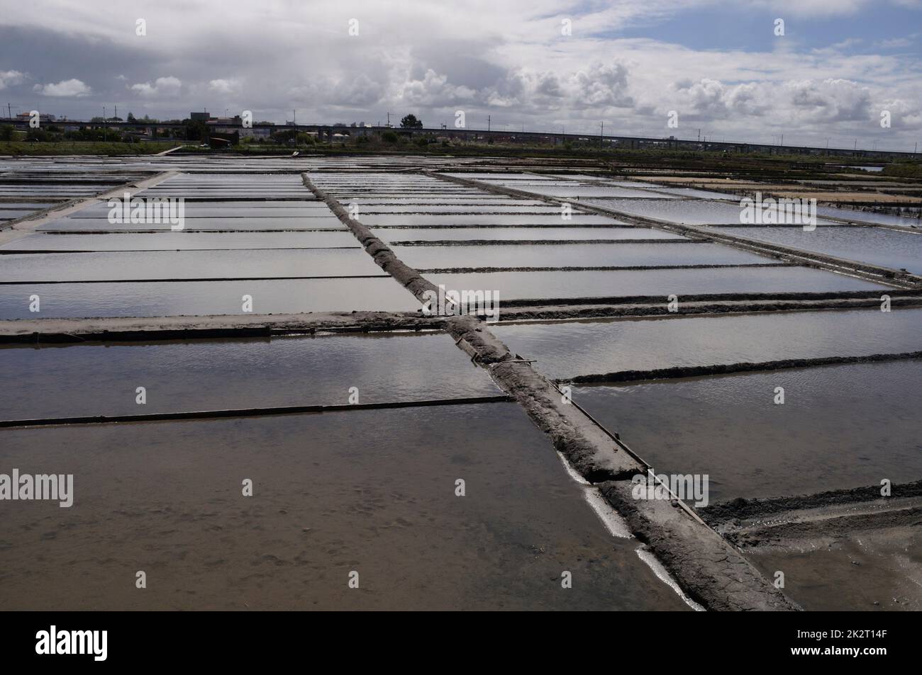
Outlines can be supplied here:
[[712, 501], [922, 478], [920, 396], [917, 360], [573, 391], [657, 472], [708, 474]]

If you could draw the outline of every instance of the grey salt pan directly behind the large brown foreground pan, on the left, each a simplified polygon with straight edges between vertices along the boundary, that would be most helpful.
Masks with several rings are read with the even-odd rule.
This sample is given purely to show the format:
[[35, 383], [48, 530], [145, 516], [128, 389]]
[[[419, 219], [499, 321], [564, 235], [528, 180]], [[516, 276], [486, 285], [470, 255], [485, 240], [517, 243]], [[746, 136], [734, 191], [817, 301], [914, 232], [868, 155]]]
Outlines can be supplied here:
[[[436, 363], [439, 378], [420, 368]], [[443, 333], [0, 347], [0, 370], [4, 419], [336, 405], [350, 387], [361, 403], [502, 393]]]

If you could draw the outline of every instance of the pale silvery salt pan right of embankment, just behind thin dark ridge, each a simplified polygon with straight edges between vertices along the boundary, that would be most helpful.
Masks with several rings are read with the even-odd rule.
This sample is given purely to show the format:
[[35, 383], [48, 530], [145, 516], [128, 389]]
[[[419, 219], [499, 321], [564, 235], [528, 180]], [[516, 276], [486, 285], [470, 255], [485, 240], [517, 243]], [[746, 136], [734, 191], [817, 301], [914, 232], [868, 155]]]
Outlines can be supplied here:
[[621, 370], [922, 351], [922, 309], [834, 309], [727, 317], [491, 326], [551, 378]]

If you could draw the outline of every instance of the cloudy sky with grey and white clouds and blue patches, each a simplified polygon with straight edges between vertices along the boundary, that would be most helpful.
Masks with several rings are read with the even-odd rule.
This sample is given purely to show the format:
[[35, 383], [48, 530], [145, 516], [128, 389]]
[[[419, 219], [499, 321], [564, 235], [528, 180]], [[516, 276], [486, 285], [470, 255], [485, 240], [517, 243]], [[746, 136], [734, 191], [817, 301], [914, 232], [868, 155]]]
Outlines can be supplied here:
[[30, 0], [0, 104], [912, 150], [920, 52], [922, 0]]

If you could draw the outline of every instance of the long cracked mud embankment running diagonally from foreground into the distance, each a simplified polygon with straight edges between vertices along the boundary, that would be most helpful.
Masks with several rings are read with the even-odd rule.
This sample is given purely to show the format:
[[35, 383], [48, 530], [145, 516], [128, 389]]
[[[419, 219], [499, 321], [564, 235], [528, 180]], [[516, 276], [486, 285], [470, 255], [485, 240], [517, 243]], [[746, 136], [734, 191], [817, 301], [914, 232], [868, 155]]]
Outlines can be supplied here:
[[[392, 273], [420, 300], [425, 290], [434, 289], [419, 272], [400, 262], [367, 227], [349, 218], [337, 200], [313, 186], [306, 174], [303, 180], [349, 227], [382, 269]], [[573, 469], [602, 488], [609, 503], [628, 518], [632, 532], [650, 547], [691, 599], [710, 610], [799, 609], [715, 530], [695, 517], [688, 506], [678, 500], [633, 499], [631, 478], [644, 473], [647, 464], [563, 396], [530, 362], [511, 353], [487, 324], [472, 316], [450, 317], [445, 323], [457, 346], [489, 370], [500, 388], [550, 436], [554, 448]]]

